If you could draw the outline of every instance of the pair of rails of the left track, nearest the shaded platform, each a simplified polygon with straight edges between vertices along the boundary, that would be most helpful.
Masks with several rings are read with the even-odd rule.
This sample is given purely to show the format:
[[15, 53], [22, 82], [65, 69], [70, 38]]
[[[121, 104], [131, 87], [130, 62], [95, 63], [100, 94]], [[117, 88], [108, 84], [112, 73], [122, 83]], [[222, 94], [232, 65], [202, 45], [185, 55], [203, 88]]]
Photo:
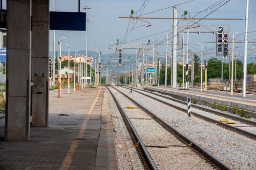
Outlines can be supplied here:
[[[113, 97], [119, 111], [122, 112], [123, 119], [126, 119], [125, 121], [127, 122], [127, 127], [128, 127], [128, 129], [130, 129], [131, 134], [133, 134], [133, 135], [135, 134], [134, 136], [135, 136], [136, 140], [134, 143], [139, 144], [140, 152], [144, 156], [144, 160], [145, 160], [144, 162], [147, 162], [147, 164], [148, 164], [147, 167], [149, 169], [156, 169], [157, 166], [155, 165], [153, 159], [150, 157], [149, 152], [147, 151], [147, 147], [149, 147], [149, 146], [145, 146], [143, 144], [142, 139], [140, 139], [138, 133], [136, 132], [131, 121], [129, 120], [128, 116], [126, 115], [125, 110], [123, 109], [124, 106], [122, 107], [122, 105], [119, 102], [121, 99], [117, 99], [115, 97], [115, 95], [113, 94], [112, 90], [110, 90], [108, 87], [107, 87], [107, 89], [110, 92], [111, 96]], [[227, 164], [225, 164], [224, 162], [222, 162], [221, 160], [219, 160], [218, 158], [213, 156], [211, 153], [209, 153], [207, 150], [205, 150], [203, 147], [201, 147], [200, 145], [198, 145], [197, 143], [195, 143], [188, 137], [184, 136], [183, 134], [181, 134], [180, 132], [175, 130], [169, 123], [165, 122], [161, 118], [154, 115], [152, 112], [150, 112], [148, 109], [146, 109], [145, 107], [140, 105], [138, 102], [136, 102], [133, 99], [131, 99], [130, 97], [128, 97], [128, 95], [124, 94], [123, 92], [116, 89], [115, 87], [111, 87], [111, 89], [115, 89], [115, 91], [120, 93], [122, 96], [125, 96], [130, 102], [135, 104], [139, 109], [141, 109], [143, 112], [147, 113], [151, 117], [151, 119], [155, 120], [158, 124], [160, 124], [162, 127], [164, 127], [165, 130], [167, 130], [169, 133], [171, 133], [171, 136], [175, 136], [179, 141], [181, 141], [185, 145], [186, 148], [187, 147], [192, 148], [193, 152], [196, 152], [200, 156], [203, 156], [204, 159], [207, 159], [208, 161], [210, 161], [212, 163], [212, 165], [214, 165], [215, 168], [218, 168], [221, 170], [231, 170], [231, 168]], [[153, 126], [153, 127], [156, 127], [156, 126]], [[150, 129], [150, 127], [149, 127], [149, 129]], [[143, 161], [143, 159], [141, 159], [141, 160]], [[156, 159], [154, 159], [154, 160], [156, 160]]]

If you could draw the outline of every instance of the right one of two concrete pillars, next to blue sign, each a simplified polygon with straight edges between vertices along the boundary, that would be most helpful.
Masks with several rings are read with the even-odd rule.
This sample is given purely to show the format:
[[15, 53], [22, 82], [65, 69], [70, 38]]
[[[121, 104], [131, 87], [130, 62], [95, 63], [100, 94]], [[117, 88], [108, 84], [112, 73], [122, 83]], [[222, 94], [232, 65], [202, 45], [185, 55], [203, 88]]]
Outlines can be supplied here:
[[32, 126], [48, 125], [49, 0], [32, 0]]

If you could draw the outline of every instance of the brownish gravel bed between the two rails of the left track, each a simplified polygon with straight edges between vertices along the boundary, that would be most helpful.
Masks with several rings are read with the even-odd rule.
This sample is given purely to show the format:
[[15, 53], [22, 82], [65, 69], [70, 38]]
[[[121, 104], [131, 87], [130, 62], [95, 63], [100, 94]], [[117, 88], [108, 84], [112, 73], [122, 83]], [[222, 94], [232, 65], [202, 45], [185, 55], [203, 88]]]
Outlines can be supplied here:
[[[213, 170], [212, 165], [189, 146], [171, 135], [122, 94], [114, 89], [111, 90], [128, 115], [158, 169]], [[134, 109], [128, 109], [127, 106], [133, 106]]]

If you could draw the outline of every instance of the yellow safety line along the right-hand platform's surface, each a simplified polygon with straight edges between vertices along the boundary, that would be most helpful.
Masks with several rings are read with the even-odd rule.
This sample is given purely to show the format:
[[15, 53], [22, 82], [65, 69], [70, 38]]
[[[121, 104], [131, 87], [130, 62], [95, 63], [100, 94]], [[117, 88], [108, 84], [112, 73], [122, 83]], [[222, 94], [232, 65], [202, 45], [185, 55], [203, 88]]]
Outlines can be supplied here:
[[[168, 90], [168, 91], [175, 91], [175, 92], [179, 92], [179, 93], [185, 93], [185, 94], [190, 94], [190, 95], [195, 95], [195, 96], [200, 96], [200, 97], [205, 97], [205, 98], [211, 98], [211, 99], [216, 99], [216, 100], [220, 100], [220, 101], [238, 102], [238, 103], [252, 105], [252, 106], [256, 105], [256, 103], [253, 103], [253, 102], [241, 101], [242, 99], [241, 100], [230, 99], [230, 97], [228, 97], [228, 96], [220, 97], [219, 95], [214, 95], [214, 94], [205, 95], [205, 94], [199, 94], [199, 92], [185, 92], [185, 91], [181, 91], [181, 90], [161, 88], [161, 87], [153, 87], [153, 88], [164, 89], [164, 90]], [[216, 97], [216, 96], [218, 96], [218, 97]]]

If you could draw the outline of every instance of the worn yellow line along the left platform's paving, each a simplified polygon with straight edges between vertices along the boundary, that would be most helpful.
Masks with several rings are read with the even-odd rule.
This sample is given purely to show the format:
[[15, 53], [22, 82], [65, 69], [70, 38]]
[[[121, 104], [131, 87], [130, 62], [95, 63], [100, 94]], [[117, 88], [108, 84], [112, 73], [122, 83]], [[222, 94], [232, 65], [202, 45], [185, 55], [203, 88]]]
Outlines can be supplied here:
[[[92, 103], [92, 105], [90, 107], [90, 110], [88, 111], [87, 116], [86, 116], [85, 120], [83, 121], [83, 124], [80, 128], [79, 134], [76, 138], [81, 138], [81, 137], [84, 136], [85, 130], [86, 130], [86, 127], [87, 127], [87, 122], [88, 122], [88, 120], [91, 116], [91, 113], [94, 109], [94, 106], [95, 106], [96, 102], [98, 101], [100, 91], [101, 91], [101, 88], [100, 88], [99, 92], [97, 93], [97, 96], [96, 96], [94, 102]], [[76, 149], [77, 149], [78, 144], [79, 144], [78, 142], [79, 142], [79, 140], [73, 140], [73, 142], [70, 145], [69, 150], [67, 151], [67, 153], [66, 153], [66, 155], [65, 155], [65, 157], [62, 161], [62, 166], [60, 167], [59, 170], [63, 170], [64, 168], [68, 168], [68, 169], [70, 168], [70, 165], [73, 161], [74, 153], [76, 152]]]

